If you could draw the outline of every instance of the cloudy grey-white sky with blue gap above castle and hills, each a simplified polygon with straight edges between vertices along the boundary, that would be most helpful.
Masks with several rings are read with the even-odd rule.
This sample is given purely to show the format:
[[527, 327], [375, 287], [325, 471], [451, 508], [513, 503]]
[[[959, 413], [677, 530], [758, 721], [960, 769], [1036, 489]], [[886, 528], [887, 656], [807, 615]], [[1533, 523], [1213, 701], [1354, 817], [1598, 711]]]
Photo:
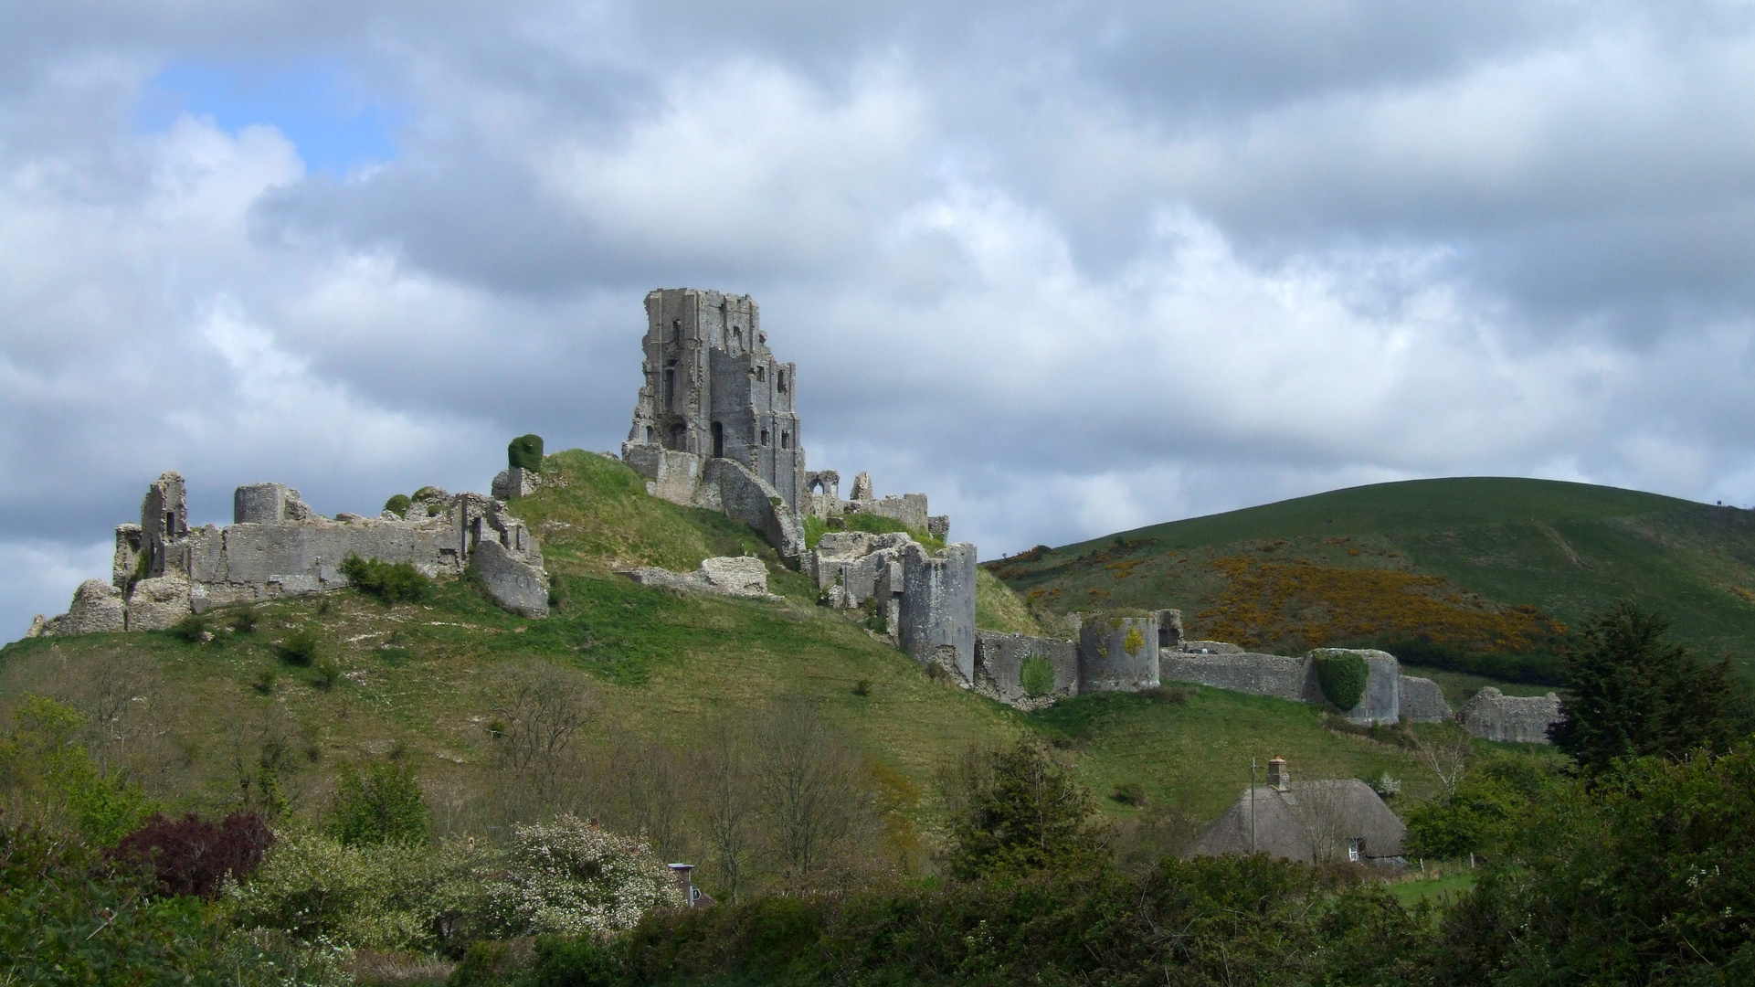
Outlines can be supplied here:
[[[363, 12], [362, 12], [363, 11]], [[983, 557], [1381, 479], [1755, 501], [1755, 7], [0, 5], [0, 638], [191, 520], [612, 450], [753, 293]]]

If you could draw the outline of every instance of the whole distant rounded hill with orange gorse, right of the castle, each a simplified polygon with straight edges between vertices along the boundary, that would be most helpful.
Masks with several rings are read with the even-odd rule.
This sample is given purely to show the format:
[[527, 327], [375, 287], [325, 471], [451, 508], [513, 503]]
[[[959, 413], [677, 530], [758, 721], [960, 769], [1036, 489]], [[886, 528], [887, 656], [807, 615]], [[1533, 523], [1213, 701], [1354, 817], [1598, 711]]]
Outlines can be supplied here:
[[1379, 483], [986, 564], [1053, 609], [1176, 606], [1193, 638], [1530, 650], [1616, 597], [1755, 666], [1755, 511], [1546, 479]]

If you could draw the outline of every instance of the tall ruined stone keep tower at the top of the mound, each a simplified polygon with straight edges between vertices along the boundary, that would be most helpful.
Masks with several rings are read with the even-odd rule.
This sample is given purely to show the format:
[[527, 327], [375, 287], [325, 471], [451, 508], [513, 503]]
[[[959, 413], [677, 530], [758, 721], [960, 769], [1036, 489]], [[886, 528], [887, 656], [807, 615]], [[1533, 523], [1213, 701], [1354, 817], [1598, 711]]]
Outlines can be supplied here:
[[628, 443], [728, 458], [793, 511], [804, 494], [797, 365], [774, 360], [749, 295], [663, 288], [646, 295], [646, 385]]

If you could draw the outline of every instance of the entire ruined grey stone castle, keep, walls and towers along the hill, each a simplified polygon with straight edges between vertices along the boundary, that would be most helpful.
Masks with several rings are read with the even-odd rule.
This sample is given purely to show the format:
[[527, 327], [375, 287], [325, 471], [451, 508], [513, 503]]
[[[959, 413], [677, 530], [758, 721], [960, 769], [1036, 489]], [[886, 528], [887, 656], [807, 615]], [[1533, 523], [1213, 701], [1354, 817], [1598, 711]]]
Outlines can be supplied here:
[[[881, 615], [897, 646], [965, 688], [1020, 708], [1160, 681], [1323, 701], [1318, 653], [1255, 655], [1185, 641], [1176, 609], [1078, 615], [1076, 641], [978, 630], [976, 546], [944, 544], [949, 518], [930, 515], [925, 494], [878, 497], [862, 472], [842, 501], [835, 471], [807, 469], [797, 365], [769, 349], [748, 295], [648, 293], [642, 372], [621, 460], [646, 478], [649, 494], [753, 525], [816, 581], [821, 602]], [[507, 508], [541, 483], [537, 472], [512, 467], [493, 479], [491, 497], [426, 488], [402, 515], [376, 518], [325, 518], [297, 490], [256, 483], [233, 494], [230, 525], [190, 529], [183, 478], [167, 472], [147, 488], [140, 522], [116, 529], [111, 581], [82, 583], [65, 615], [39, 616], [30, 634], [163, 629], [216, 606], [340, 588], [349, 555], [411, 562], [428, 576], [472, 569], [497, 602], [542, 618], [549, 606], [542, 551]], [[892, 518], [909, 532], [828, 530], [814, 548], [806, 544], [804, 518], [834, 529], [860, 513]], [[690, 574], [627, 574], [684, 590], [767, 594], [767, 573], [755, 558], [709, 558]], [[1400, 674], [1385, 652], [1358, 653], [1369, 674], [1348, 718], [1451, 717], [1430, 680]], [[1490, 739], [1541, 743], [1557, 715], [1551, 694], [1522, 699], [1485, 688], [1460, 722]]]

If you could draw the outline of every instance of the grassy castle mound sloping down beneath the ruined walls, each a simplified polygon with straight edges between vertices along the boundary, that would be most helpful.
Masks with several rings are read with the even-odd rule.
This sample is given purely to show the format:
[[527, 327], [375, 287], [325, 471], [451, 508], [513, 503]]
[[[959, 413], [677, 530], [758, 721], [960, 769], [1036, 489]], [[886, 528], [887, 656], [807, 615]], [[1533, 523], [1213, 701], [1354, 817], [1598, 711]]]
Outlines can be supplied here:
[[[419, 604], [355, 592], [216, 611], [214, 639], [174, 632], [16, 641], [0, 650], [0, 725], [25, 695], [86, 715], [86, 743], [168, 810], [277, 808], [314, 818], [340, 764], [412, 764], [439, 829], [493, 834], [572, 808], [706, 855], [688, 822], [693, 762], [718, 724], [760, 727], [792, 702], [869, 764], [899, 852], [932, 843], [941, 773], [971, 745], [1035, 732], [1072, 752], [1099, 796], [1137, 787], [1146, 808], [1214, 817], [1246, 783], [1248, 760], [1286, 755], [1304, 776], [1408, 780], [1430, 792], [1409, 752], [1322, 725], [1295, 702], [1195, 690], [1185, 701], [1092, 695], [1023, 715], [925, 674], [869, 634], [862, 615], [816, 606], [753, 529], [646, 495], [620, 462], [583, 451], [544, 464], [544, 490], [514, 509], [541, 537], [563, 602], [548, 620], [509, 615], [467, 581]], [[769, 564], [770, 592], [746, 601], [677, 595], [616, 576], [625, 566], [693, 569], [709, 555]], [[983, 573], [985, 627], [1035, 630], [1037, 616]], [[314, 638], [309, 662], [290, 643]], [[549, 676], [542, 680], [542, 676]], [[532, 803], [509, 787], [497, 731], [511, 690], [560, 681], [586, 711], [558, 789]], [[911, 848], [911, 850], [909, 850]], [[906, 854], [904, 854], [906, 855]]]

